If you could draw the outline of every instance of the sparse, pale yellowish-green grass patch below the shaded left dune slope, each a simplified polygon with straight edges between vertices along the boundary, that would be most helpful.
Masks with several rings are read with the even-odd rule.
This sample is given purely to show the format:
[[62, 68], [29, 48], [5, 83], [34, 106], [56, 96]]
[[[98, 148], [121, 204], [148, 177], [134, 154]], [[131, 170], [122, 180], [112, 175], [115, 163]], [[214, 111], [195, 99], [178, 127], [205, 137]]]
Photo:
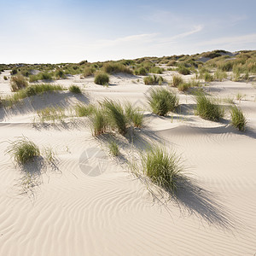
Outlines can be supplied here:
[[65, 111], [63, 108], [55, 108], [55, 107], [48, 107], [37, 111], [38, 118], [41, 123], [44, 121], [53, 121], [59, 120], [61, 121], [66, 117]]

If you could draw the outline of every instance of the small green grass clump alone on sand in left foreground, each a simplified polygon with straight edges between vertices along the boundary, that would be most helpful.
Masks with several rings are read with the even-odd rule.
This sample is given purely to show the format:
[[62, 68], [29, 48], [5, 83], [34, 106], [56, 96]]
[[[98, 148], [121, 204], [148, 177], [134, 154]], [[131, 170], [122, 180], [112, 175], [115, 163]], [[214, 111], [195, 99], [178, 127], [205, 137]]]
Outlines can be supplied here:
[[20, 137], [15, 142], [10, 143], [6, 152], [11, 154], [11, 156], [14, 157], [15, 162], [21, 165], [40, 156], [38, 146], [26, 137]]

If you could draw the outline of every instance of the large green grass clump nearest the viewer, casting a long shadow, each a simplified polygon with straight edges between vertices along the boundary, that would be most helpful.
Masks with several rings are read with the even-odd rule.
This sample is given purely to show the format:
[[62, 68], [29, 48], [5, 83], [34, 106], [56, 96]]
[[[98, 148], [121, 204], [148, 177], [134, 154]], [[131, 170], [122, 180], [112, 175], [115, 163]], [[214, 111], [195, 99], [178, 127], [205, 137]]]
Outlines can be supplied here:
[[177, 191], [178, 178], [182, 177], [183, 168], [180, 158], [175, 153], [168, 153], [166, 148], [154, 145], [142, 155], [143, 173], [160, 188], [168, 192]]

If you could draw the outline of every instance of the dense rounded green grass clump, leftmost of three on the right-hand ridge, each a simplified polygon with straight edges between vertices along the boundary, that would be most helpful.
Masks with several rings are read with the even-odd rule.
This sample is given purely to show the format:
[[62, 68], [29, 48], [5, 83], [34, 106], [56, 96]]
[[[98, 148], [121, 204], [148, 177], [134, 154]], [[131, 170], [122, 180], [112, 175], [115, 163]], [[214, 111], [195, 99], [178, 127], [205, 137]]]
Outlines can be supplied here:
[[178, 98], [170, 90], [159, 88], [150, 90], [148, 103], [153, 113], [165, 116], [177, 107]]

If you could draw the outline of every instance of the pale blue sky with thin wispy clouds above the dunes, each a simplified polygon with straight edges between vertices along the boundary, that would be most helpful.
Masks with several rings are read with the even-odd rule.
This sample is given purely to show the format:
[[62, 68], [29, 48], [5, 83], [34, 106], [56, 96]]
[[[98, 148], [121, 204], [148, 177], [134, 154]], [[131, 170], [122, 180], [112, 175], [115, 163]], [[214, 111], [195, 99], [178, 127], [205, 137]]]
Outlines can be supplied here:
[[0, 0], [0, 63], [256, 49], [255, 9], [255, 0]]

